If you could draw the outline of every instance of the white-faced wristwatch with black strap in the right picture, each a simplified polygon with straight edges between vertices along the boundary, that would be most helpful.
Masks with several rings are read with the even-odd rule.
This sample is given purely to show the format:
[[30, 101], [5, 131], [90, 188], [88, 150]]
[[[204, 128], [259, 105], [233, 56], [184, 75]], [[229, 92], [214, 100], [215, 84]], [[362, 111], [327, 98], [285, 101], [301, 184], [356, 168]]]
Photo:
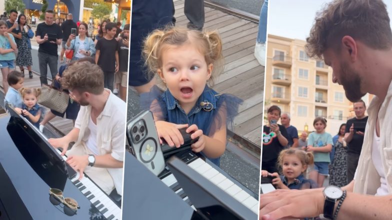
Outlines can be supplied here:
[[323, 211], [324, 218], [332, 220], [335, 203], [337, 200], [340, 200], [340, 198], [343, 196], [343, 191], [336, 186], [327, 186], [324, 188], [322, 193], [324, 194], [325, 197], [324, 211]]

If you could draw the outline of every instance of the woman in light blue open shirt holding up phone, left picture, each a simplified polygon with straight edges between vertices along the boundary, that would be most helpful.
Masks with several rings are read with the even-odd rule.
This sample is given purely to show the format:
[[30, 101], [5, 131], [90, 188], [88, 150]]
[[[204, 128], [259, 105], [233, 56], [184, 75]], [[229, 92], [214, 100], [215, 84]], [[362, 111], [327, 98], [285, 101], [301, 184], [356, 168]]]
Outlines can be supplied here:
[[[68, 59], [78, 60], [86, 56], [93, 56], [95, 54], [95, 44], [91, 38], [87, 37], [87, 24], [79, 24], [79, 35], [70, 34], [66, 41], [65, 48], [67, 50], [73, 50], [73, 54], [70, 57], [69, 52], [65, 51], [65, 56]], [[72, 53], [72, 52], [70, 52]], [[68, 57], [69, 55], [69, 57]]]

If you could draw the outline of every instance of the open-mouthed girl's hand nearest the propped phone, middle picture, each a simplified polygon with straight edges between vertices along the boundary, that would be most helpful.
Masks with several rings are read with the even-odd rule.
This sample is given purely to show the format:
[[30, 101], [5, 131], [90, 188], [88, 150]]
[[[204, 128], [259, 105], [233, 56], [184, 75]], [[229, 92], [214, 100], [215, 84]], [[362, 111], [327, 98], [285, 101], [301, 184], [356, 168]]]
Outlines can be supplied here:
[[165, 121], [155, 122], [156, 131], [158, 133], [159, 142], [162, 144], [163, 138], [170, 147], [179, 147], [183, 144], [183, 138], [178, 129], [188, 127], [187, 124], [177, 125]]

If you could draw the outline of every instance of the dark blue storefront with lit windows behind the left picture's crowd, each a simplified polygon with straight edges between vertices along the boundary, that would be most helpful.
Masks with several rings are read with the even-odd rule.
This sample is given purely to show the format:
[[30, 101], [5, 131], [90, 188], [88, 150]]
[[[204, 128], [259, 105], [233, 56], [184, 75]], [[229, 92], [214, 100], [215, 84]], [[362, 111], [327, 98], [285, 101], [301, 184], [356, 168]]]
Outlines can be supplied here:
[[[46, 0], [48, 3], [47, 9], [53, 10], [55, 18], [62, 20], [66, 19], [66, 14], [72, 13], [73, 20], [76, 22], [79, 19], [80, 3], [84, 0]], [[43, 5], [43, 0], [23, 0], [25, 4], [24, 14], [29, 23], [38, 21]], [[36, 20], [35, 20], [36, 19]]]

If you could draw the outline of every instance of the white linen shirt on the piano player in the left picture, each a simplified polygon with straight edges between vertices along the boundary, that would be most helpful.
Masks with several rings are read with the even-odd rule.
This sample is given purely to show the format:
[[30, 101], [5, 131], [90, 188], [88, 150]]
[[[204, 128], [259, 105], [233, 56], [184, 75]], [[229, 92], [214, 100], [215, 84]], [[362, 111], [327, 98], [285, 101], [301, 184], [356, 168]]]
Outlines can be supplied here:
[[[110, 154], [114, 159], [123, 161], [125, 149], [125, 102], [110, 93], [103, 111], [96, 118], [96, 147], [99, 155]], [[80, 106], [75, 121], [75, 128], [80, 129], [74, 146], [86, 142], [90, 133], [88, 120], [91, 117], [91, 106]], [[114, 182], [117, 194], [122, 196], [122, 169], [107, 168]]]

